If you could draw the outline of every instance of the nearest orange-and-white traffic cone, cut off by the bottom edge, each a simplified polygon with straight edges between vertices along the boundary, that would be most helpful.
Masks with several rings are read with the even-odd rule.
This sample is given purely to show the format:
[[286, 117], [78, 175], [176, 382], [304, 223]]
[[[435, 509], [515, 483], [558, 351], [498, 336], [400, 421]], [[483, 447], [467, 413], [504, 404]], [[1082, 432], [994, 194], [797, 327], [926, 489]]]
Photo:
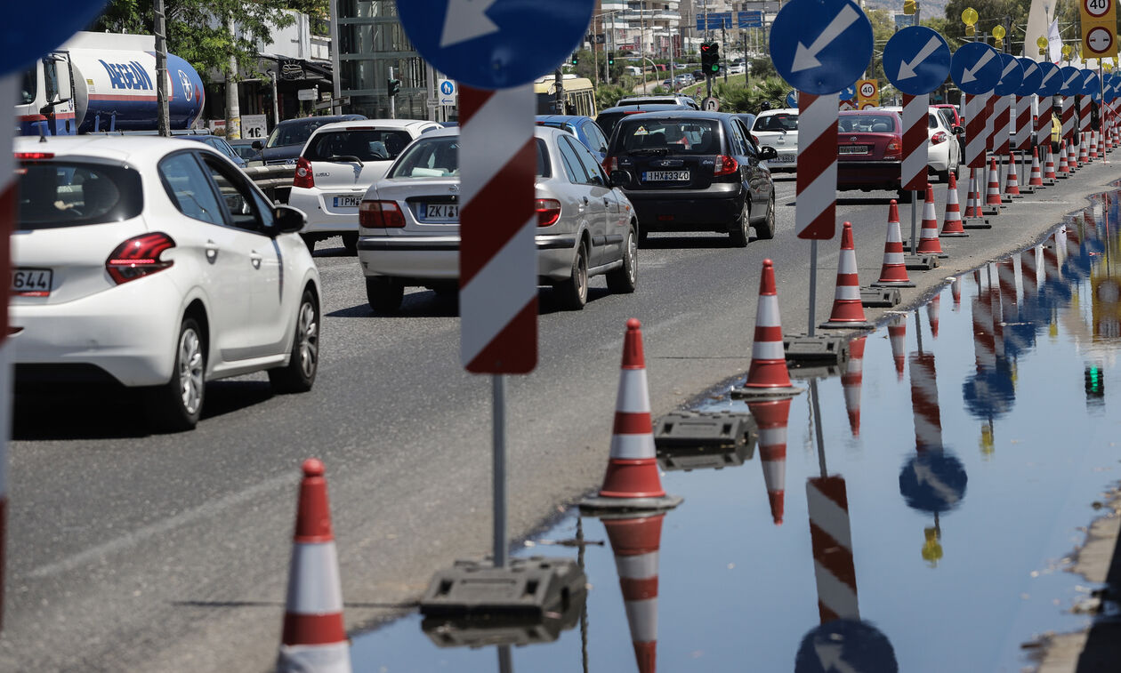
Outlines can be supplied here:
[[277, 671], [350, 673], [327, 482], [318, 459], [308, 458], [303, 468]]

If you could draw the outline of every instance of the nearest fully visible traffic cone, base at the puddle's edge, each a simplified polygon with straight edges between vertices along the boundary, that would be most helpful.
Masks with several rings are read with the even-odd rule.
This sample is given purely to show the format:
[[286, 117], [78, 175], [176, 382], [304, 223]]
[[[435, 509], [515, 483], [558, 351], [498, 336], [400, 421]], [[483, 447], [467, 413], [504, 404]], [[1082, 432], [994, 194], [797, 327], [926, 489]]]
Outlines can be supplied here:
[[646, 356], [642, 353], [642, 324], [638, 318], [631, 318], [627, 320], [627, 335], [623, 337], [608, 471], [599, 495], [585, 497], [580, 506], [586, 510], [643, 511], [669, 510], [680, 503], [680, 497], [666, 495], [658, 477]]

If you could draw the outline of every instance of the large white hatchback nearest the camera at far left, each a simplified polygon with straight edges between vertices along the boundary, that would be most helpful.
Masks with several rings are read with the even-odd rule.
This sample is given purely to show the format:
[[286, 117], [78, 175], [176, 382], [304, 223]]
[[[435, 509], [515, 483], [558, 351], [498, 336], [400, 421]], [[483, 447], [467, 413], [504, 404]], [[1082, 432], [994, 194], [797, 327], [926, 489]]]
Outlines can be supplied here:
[[207, 381], [311, 390], [321, 292], [299, 211], [189, 140], [18, 138], [16, 161], [17, 385], [149, 389], [169, 431], [194, 428]]

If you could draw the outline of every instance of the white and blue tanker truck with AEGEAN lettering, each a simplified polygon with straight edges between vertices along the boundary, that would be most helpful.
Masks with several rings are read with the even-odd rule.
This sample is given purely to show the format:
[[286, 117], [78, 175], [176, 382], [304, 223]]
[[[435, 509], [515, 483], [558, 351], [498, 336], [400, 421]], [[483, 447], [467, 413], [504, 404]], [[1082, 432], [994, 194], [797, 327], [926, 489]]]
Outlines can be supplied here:
[[[189, 63], [167, 55], [172, 129], [193, 128], [203, 82]], [[78, 32], [24, 73], [16, 99], [22, 135], [151, 131], [156, 119], [156, 38]]]

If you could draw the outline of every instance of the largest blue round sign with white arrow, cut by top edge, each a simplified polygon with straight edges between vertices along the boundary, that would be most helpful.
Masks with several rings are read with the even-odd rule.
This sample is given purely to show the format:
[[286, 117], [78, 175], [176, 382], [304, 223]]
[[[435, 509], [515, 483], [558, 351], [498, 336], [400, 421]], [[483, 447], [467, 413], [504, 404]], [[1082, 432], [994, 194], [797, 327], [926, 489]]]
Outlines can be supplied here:
[[436, 69], [469, 86], [510, 88], [556, 69], [587, 32], [594, 0], [408, 0], [405, 34]]

